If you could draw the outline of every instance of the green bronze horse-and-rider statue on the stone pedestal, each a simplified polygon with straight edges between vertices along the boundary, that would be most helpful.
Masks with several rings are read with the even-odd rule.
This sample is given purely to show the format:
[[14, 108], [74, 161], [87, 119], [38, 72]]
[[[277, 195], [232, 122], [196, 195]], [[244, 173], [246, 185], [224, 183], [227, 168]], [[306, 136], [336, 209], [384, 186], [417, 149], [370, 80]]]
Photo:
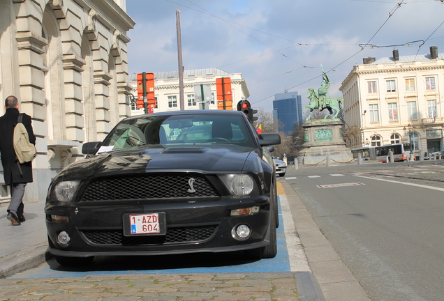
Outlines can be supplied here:
[[[321, 65], [322, 68], [322, 65]], [[307, 93], [307, 97], [310, 100], [309, 105], [306, 105], [302, 111], [305, 109], [310, 109], [309, 116], [305, 119], [308, 121], [311, 117], [311, 113], [313, 113], [314, 109], [318, 109], [322, 111], [323, 109], [328, 109], [330, 114], [324, 116], [326, 119], [328, 116], [332, 116], [332, 118], [336, 118], [343, 107], [343, 98], [327, 98], [328, 88], [330, 88], [330, 80], [327, 77], [327, 74], [323, 70], [323, 81], [320, 84], [320, 88], [318, 88], [318, 93], [316, 93], [314, 88], [309, 88]], [[335, 113], [333, 114], [333, 111]]]

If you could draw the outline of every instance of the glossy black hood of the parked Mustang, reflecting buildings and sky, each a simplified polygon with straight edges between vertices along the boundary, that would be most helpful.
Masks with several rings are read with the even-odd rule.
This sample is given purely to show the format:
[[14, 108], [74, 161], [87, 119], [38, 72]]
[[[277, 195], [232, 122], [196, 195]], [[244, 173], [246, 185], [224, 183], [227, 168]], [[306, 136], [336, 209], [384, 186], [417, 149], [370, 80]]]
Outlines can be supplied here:
[[[136, 148], [111, 151], [77, 161], [59, 177], [64, 180], [89, 178], [98, 174], [138, 173], [147, 171], [241, 172], [253, 148], [233, 145], [209, 147]], [[258, 154], [256, 154], [258, 155]]]

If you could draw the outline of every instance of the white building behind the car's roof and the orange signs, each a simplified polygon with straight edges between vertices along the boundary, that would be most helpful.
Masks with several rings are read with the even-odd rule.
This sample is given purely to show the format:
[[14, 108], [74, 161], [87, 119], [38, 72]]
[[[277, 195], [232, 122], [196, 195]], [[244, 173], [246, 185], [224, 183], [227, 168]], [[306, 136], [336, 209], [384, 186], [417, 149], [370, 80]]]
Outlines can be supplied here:
[[[137, 74], [130, 76], [134, 99], [138, 97], [136, 77]], [[204, 86], [205, 109], [217, 109], [216, 78], [219, 77], [231, 79], [232, 107], [228, 109], [237, 109], [239, 100], [249, 98], [249, 90], [240, 73], [227, 73], [218, 68], [184, 70], [184, 109], [202, 109], [201, 98], [195, 95], [196, 88], [201, 91], [200, 85]], [[157, 99], [154, 113], [179, 110], [179, 71], [154, 72], [154, 94]], [[131, 105], [131, 109], [131, 115], [145, 114], [145, 109], [138, 109], [135, 105]]]

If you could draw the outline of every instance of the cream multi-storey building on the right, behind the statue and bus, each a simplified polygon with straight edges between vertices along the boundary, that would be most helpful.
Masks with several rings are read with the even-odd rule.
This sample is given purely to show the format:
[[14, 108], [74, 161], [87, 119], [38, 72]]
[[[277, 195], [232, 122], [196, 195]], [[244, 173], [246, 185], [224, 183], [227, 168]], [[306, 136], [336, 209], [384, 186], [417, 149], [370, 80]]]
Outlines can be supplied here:
[[[413, 142], [415, 155], [443, 149], [444, 54], [364, 59], [342, 82], [349, 148]], [[441, 95], [443, 94], [443, 95]]]

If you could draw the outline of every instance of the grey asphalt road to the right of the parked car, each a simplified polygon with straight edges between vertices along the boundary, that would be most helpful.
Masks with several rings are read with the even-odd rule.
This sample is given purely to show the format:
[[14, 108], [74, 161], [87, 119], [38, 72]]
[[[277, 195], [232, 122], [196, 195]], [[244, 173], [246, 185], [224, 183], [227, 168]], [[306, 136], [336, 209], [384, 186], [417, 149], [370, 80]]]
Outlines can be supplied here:
[[444, 166], [291, 170], [286, 180], [372, 301], [444, 300]]

